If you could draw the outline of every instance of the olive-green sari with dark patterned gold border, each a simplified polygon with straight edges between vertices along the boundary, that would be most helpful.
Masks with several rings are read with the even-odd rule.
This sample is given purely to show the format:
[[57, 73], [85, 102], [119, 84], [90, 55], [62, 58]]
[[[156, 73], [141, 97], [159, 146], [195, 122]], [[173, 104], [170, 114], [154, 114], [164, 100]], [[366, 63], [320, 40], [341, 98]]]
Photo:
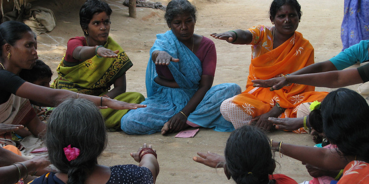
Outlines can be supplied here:
[[[50, 85], [55, 89], [67, 89], [87, 95], [101, 96], [110, 90], [115, 80], [121, 77], [133, 66], [131, 60], [125, 54], [122, 47], [110, 36], [105, 48], [119, 50], [116, 58], [92, 58], [78, 63], [65, 61], [65, 55], [59, 63], [56, 71], [58, 77]], [[141, 103], [145, 100], [141, 93], [126, 92], [114, 99], [128, 102]], [[105, 125], [110, 131], [120, 130], [120, 119], [128, 110], [101, 109], [105, 118]]]

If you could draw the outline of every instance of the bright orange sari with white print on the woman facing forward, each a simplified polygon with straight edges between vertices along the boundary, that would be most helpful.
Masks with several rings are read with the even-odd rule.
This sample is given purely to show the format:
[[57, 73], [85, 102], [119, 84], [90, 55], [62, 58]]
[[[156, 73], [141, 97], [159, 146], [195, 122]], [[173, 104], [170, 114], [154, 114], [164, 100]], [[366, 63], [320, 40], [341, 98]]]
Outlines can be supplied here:
[[[286, 110], [280, 117], [296, 117], [297, 107], [304, 102], [321, 101], [327, 92], [315, 92], [314, 86], [292, 84], [280, 90], [253, 87], [253, 79], [270, 79], [289, 74], [314, 63], [314, 48], [299, 32], [273, 49], [274, 27], [254, 26], [248, 31], [253, 35], [252, 59], [246, 90], [237, 95], [233, 102], [241, 106], [252, 117], [269, 112], [275, 102]], [[303, 128], [294, 131], [304, 133]]]

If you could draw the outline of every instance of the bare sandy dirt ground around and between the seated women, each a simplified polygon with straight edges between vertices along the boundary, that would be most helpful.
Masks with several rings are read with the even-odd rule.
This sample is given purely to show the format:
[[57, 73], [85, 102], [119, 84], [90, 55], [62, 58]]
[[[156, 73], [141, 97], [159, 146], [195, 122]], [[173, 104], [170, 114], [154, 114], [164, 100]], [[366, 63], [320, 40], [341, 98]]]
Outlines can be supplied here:
[[[192, 0], [197, 7], [195, 33], [210, 38], [210, 33], [224, 32], [232, 29], [248, 29], [251, 26], [271, 25], [268, 15], [272, 0]], [[83, 36], [79, 25], [79, 8], [83, 0], [35, 1], [32, 4], [50, 8], [54, 11], [57, 22], [53, 31], [38, 36], [39, 58], [55, 71], [66, 50], [69, 38]], [[157, 33], [168, 30], [164, 12], [151, 8], [137, 8], [137, 18], [128, 17], [128, 7], [123, 0], [107, 0], [113, 9], [111, 15], [112, 36], [123, 47], [134, 66], [127, 72], [127, 91], [140, 92], [146, 96], [145, 70], [149, 58], [149, 49]], [[167, 4], [167, 0], [161, 0]], [[343, 17], [343, 1], [336, 0], [299, 0], [302, 19], [297, 31], [310, 40], [315, 48], [315, 62], [325, 61], [342, 49], [340, 28]], [[214, 85], [233, 82], [245, 89], [248, 66], [251, 60], [250, 46], [232, 45], [223, 40], [215, 40], [217, 47], [217, 70]], [[54, 72], [53, 79], [56, 77]], [[349, 86], [356, 89], [357, 86]], [[332, 91], [317, 88], [317, 91]], [[200, 128], [194, 138], [175, 138], [175, 134], [162, 136], [127, 135], [123, 132], [109, 132], [109, 144], [99, 158], [99, 163], [113, 166], [116, 164], [135, 164], [129, 153], [137, 151], [143, 144], [152, 144], [157, 150], [160, 173], [157, 183], [234, 183], [224, 176], [223, 169], [212, 169], [196, 163], [192, 157], [196, 152], [211, 151], [223, 155], [229, 132], [216, 132]], [[276, 141], [298, 145], [313, 146], [307, 134], [276, 131], [268, 136]], [[258, 149], [258, 148], [255, 148]], [[305, 166], [301, 162], [279, 155], [275, 156], [277, 169], [298, 183], [310, 180]]]

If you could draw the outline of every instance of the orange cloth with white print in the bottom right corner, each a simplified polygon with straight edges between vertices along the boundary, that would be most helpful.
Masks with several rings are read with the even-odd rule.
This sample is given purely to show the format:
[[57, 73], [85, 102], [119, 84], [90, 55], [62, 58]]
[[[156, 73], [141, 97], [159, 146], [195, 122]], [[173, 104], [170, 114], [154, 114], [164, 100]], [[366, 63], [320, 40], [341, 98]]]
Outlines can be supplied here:
[[354, 160], [348, 163], [344, 169], [342, 177], [337, 184], [368, 184], [369, 164], [363, 161]]

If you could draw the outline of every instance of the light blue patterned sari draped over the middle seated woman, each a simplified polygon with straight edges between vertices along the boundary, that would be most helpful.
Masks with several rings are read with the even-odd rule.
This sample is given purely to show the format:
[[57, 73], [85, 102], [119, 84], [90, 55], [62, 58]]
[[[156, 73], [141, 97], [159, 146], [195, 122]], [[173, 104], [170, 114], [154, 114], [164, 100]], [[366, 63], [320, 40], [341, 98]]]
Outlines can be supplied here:
[[[163, 125], [187, 105], [199, 88], [202, 75], [199, 58], [180, 42], [172, 31], [158, 34], [156, 37], [146, 68], [148, 97], [141, 103], [147, 107], [130, 110], [123, 116], [121, 129], [127, 134], [160, 132]], [[165, 51], [179, 59], [179, 62], [170, 62], [168, 65], [179, 88], [161, 86], [154, 81], [158, 76], [155, 63], [151, 59], [155, 50]], [[215, 131], [233, 131], [232, 123], [220, 114], [220, 105], [223, 100], [239, 93], [241, 88], [237, 84], [225, 83], [211, 87], [187, 120], [201, 127], [213, 128]]]

